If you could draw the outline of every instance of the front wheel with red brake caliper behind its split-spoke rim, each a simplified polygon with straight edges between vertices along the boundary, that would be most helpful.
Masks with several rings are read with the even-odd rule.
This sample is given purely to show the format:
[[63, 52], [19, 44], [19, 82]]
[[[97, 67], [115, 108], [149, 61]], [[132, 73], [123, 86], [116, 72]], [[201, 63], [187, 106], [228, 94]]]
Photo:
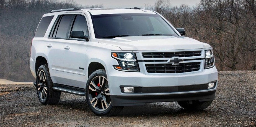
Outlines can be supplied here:
[[123, 106], [112, 106], [105, 69], [94, 71], [86, 83], [86, 101], [93, 113], [113, 116], [122, 111]]

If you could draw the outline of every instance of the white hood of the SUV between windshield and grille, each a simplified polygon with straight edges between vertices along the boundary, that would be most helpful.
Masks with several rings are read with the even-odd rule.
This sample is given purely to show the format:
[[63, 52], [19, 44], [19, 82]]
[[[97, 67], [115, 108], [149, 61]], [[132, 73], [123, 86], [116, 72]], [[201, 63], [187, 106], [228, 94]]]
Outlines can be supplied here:
[[99, 39], [99, 43], [118, 46], [121, 50], [177, 50], [211, 48], [206, 43], [189, 37], [173, 36], [129, 36], [111, 39]]

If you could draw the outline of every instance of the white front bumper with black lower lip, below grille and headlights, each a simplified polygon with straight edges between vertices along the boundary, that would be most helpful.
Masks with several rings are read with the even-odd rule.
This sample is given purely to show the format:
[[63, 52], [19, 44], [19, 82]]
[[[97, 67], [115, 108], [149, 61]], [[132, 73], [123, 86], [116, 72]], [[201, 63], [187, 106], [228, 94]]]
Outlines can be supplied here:
[[[164, 101], [210, 101], [214, 100], [218, 85], [218, 71], [216, 67], [197, 73], [180, 75], [147, 75], [141, 72], [118, 71], [112, 65], [106, 65], [105, 68], [108, 75], [112, 105], [114, 106], [130, 106]], [[120, 86], [138, 86], [153, 87], [152, 89], [154, 89], [154, 87], [164, 88], [207, 84], [212, 81], [217, 81], [213, 89], [184, 92], [122, 93], [120, 88]]]

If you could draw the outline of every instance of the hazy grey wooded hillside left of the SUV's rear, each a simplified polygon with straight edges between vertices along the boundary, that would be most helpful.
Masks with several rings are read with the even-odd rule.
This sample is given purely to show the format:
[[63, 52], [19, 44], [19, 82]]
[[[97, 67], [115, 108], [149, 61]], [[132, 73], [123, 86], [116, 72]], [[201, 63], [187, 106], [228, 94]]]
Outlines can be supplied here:
[[101, 8], [82, 6], [69, 0], [0, 0], [0, 78], [34, 81], [29, 67], [30, 46], [42, 15], [66, 8]]

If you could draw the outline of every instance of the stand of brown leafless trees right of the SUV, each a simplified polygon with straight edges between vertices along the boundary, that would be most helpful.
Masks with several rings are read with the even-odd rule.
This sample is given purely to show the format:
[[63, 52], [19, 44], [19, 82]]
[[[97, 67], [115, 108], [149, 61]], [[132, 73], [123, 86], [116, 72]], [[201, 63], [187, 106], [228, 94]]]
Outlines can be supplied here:
[[256, 69], [255, 0], [201, 0], [195, 8], [165, 2], [157, 1], [155, 10], [186, 36], [213, 46], [218, 70]]

